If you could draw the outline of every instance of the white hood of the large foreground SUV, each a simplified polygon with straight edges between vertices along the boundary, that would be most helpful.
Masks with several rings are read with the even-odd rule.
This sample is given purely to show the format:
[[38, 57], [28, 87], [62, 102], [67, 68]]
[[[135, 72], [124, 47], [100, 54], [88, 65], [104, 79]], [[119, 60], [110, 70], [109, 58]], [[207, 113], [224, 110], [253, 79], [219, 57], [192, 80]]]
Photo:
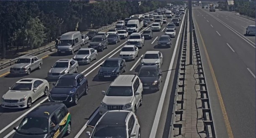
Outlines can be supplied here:
[[125, 105], [130, 103], [133, 96], [107, 96], [105, 95], [102, 102], [107, 105]]

